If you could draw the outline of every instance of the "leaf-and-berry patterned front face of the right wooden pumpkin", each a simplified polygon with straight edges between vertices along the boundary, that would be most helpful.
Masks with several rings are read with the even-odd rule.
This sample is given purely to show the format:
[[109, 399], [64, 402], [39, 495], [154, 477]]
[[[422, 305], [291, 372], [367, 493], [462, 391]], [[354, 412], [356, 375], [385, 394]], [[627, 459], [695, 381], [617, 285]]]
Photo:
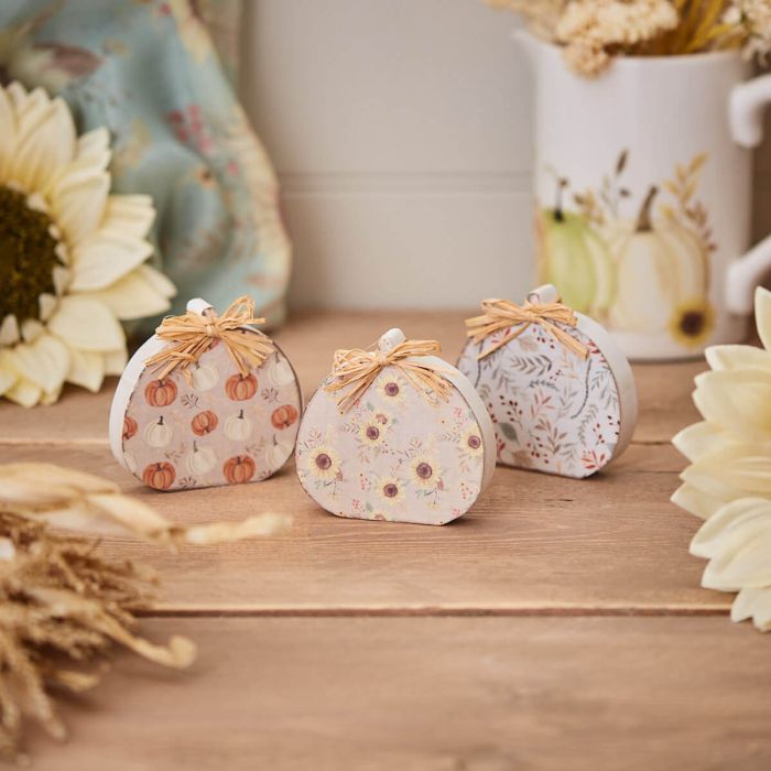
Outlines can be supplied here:
[[[475, 383], [496, 428], [498, 461], [566, 477], [587, 477], [618, 442], [618, 387], [602, 352], [584, 333], [563, 327], [589, 355], [582, 359], [537, 325], [495, 354], [469, 341], [458, 369]], [[498, 339], [508, 329], [497, 333]]]

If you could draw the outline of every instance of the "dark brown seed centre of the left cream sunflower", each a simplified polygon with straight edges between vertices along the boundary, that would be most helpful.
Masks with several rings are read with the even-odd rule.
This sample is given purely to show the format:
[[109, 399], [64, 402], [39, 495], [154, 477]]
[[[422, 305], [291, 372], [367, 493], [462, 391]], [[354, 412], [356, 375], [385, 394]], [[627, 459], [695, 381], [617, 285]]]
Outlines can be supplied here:
[[56, 294], [54, 268], [62, 265], [53, 225], [31, 209], [26, 196], [0, 185], [0, 322], [13, 314], [19, 324], [40, 318], [41, 294]]

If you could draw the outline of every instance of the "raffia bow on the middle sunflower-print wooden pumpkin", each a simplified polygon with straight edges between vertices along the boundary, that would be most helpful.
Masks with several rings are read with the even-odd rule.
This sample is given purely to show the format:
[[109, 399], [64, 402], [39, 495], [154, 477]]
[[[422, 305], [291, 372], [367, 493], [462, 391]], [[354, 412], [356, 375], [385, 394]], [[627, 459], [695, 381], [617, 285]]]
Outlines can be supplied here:
[[346, 412], [374, 382], [383, 367], [392, 366], [425, 398], [435, 393], [446, 401], [450, 386], [443, 377], [443, 370], [425, 361], [411, 360], [412, 357], [434, 356], [441, 350], [436, 340], [404, 340], [388, 352], [361, 348], [336, 350], [332, 373], [337, 380], [327, 384], [325, 390], [333, 393], [347, 390], [337, 402]]

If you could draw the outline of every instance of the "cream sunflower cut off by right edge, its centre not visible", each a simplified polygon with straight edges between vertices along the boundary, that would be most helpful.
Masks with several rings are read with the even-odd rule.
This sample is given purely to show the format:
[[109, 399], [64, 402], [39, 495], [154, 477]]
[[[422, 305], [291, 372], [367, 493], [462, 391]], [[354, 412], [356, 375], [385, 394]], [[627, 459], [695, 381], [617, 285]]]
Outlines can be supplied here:
[[696, 378], [704, 421], [674, 437], [691, 461], [672, 501], [706, 520], [691, 552], [709, 560], [702, 585], [738, 591], [731, 618], [771, 630], [771, 292], [756, 292], [763, 348], [706, 351], [712, 371]]

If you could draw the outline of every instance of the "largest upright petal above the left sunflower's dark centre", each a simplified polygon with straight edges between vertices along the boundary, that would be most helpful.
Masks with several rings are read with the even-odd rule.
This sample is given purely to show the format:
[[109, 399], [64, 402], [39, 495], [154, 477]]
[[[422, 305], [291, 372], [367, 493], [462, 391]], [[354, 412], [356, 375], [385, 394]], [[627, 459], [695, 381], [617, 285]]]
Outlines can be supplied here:
[[13, 155], [9, 158], [8, 177], [26, 191], [41, 189], [72, 161], [74, 152], [73, 117], [64, 101], [56, 98], [34, 120], [21, 121]]

